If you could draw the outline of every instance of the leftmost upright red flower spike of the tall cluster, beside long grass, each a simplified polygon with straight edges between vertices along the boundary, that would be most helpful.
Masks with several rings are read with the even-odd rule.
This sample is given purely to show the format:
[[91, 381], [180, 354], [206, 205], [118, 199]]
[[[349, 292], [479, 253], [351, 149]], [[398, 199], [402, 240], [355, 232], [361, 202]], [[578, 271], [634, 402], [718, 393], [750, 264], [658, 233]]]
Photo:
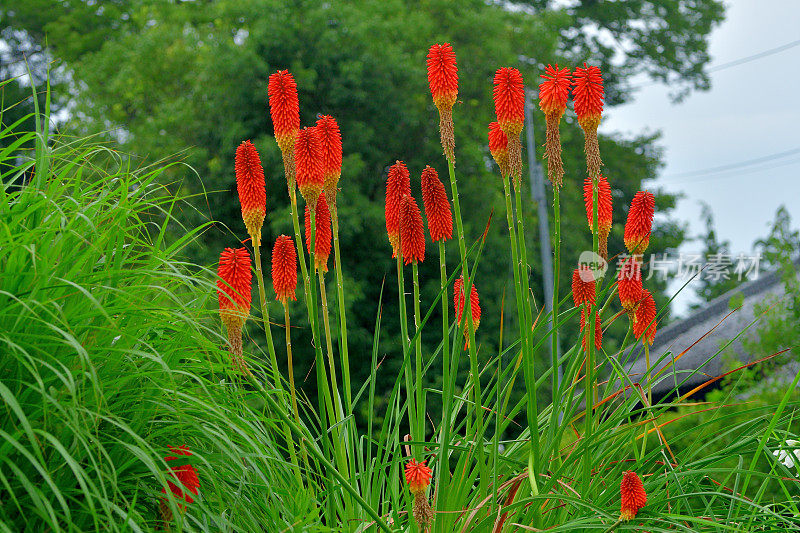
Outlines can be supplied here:
[[252, 272], [250, 254], [246, 248], [225, 248], [219, 256], [217, 267], [217, 299], [222, 322], [228, 326], [241, 326], [250, 314]]

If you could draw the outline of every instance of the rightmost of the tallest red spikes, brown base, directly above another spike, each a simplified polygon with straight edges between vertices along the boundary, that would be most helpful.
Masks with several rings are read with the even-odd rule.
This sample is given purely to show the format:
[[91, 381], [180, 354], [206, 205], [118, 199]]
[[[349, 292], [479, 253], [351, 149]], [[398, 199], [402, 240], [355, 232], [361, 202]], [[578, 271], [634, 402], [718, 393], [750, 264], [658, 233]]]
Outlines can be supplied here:
[[600, 174], [603, 161], [600, 159], [600, 147], [597, 144], [597, 127], [603, 113], [603, 76], [598, 67], [575, 69], [572, 77], [572, 97], [575, 100], [575, 114], [578, 124], [583, 129], [585, 138], [586, 169], [589, 177], [595, 179]]

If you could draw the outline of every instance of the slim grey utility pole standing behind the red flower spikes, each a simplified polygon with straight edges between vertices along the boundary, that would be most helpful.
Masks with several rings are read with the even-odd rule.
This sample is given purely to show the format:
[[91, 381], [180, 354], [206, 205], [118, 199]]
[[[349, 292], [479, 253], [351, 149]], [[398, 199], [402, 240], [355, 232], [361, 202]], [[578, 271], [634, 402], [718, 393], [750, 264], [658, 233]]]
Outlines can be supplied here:
[[[531, 89], [525, 89], [525, 132], [527, 138], [527, 157], [528, 157], [528, 174], [531, 180], [531, 196], [536, 203], [537, 214], [539, 218], [539, 242], [542, 251], [542, 278], [544, 283], [544, 309], [550, 314], [550, 329], [555, 335], [553, 329], [553, 251], [550, 248], [550, 224], [547, 218], [547, 201], [544, 194], [544, 173], [542, 166], [536, 160], [536, 140], [533, 131], [533, 111], [534, 100], [538, 97], [538, 93]], [[520, 216], [520, 213], [517, 213]], [[552, 352], [552, 344], [548, 343], [550, 351]], [[552, 357], [552, 353], [550, 354]], [[556, 355], [556, 361], [560, 354]], [[558, 383], [561, 383], [561, 365], [556, 369], [558, 376]], [[560, 417], [559, 417], [560, 419]]]

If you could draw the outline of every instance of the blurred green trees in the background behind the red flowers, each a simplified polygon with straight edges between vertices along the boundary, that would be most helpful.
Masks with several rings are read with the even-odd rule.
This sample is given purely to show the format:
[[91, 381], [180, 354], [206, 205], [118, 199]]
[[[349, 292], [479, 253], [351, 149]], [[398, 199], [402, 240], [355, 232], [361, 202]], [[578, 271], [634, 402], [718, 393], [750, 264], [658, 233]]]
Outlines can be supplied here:
[[[722, 21], [720, 0], [563, 4], [546, 0], [6, 0], [0, 7], [4, 43], [0, 74], [24, 73], [20, 63], [6, 62], [7, 55], [19, 59], [24, 53], [35, 80], [45, 76], [52, 60], [55, 68], [50, 75], [56, 105], [62, 110], [62, 131], [107, 136], [141, 164], [179, 154], [186, 165], [172, 167], [167, 179], [175, 188], [197, 193], [196, 211], [184, 213], [186, 222], [219, 221], [192, 249], [193, 259], [211, 266], [223, 247], [236, 245], [246, 236], [233, 180], [234, 151], [243, 140], [251, 139], [256, 145], [267, 176], [264, 242], [291, 233], [281, 158], [272, 137], [266, 97], [267, 77], [278, 69], [289, 69], [298, 83], [302, 123], [313, 124], [318, 113], [330, 114], [342, 130], [342, 268], [353, 380], [360, 383], [369, 373], [384, 278], [389, 283], [382, 302], [381, 355], [387, 356], [384, 364], [390, 367], [399, 360], [394, 263], [383, 221], [388, 166], [396, 159], [408, 164], [418, 201], [419, 174], [426, 164], [446, 174], [438, 115], [425, 74], [425, 55], [431, 44], [451, 42], [458, 57], [456, 171], [467, 238], [477, 239], [493, 212], [500, 217], [489, 229], [476, 279], [483, 308], [478, 339], [484, 354], [497, 349], [501, 317], [504, 339], [514, 338], [517, 331], [508, 235], [501, 223], [502, 186], [486, 146], [487, 125], [494, 119], [494, 71], [516, 66], [528, 85], [535, 86], [547, 63], [597, 64], [603, 69], [608, 106], [632, 97], [630, 80], [636, 74], [668, 82], [676, 98], [690, 89], [707, 88], [703, 71], [709, 59], [707, 38]], [[28, 81], [23, 77], [15, 83], [24, 86]], [[538, 111], [534, 122], [542, 141], [544, 120]], [[581, 250], [591, 246], [591, 236], [581, 192], [583, 137], [570, 114], [562, 139], [567, 171], [562, 194], [563, 296], [569, 290], [566, 280], [574, 262]], [[625, 250], [622, 229], [630, 199], [644, 181], [656, 177], [661, 165], [657, 141], [658, 135], [653, 134], [601, 136], [604, 174], [614, 192], [612, 255]], [[541, 160], [541, 148], [538, 151]], [[663, 253], [680, 245], [685, 227], [669, 218], [676, 198], [654, 192], [658, 217], [648, 251]], [[536, 211], [533, 202], [527, 205], [531, 286], [541, 303]], [[436, 252], [430, 247], [428, 253]], [[458, 256], [453, 243], [448, 254], [452, 267]], [[435, 263], [429, 259], [421, 266], [423, 308], [438, 292]], [[666, 304], [663, 284], [648, 282], [648, 288], [659, 306]], [[438, 307], [434, 323], [439, 320], [437, 311]], [[310, 346], [308, 328], [302, 322], [298, 325], [296, 373], [303, 376], [313, 357], [310, 349], [302, 348]], [[438, 328], [428, 330], [430, 337], [423, 341], [427, 353], [432, 353]], [[624, 330], [622, 321], [611, 326], [605, 334], [608, 349], [619, 342]], [[566, 331], [565, 346], [577, 338]], [[549, 359], [541, 354], [541, 370]], [[394, 369], [384, 375], [395, 375]]]

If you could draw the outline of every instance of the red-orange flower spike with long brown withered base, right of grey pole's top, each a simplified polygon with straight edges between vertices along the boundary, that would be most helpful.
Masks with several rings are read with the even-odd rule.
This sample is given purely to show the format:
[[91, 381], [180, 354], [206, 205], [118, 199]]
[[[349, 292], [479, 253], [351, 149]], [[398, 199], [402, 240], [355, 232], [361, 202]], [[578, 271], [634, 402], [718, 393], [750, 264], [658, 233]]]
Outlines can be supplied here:
[[572, 77], [568, 68], [547, 65], [541, 76], [545, 81], [539, 84], [539, 108], [547, 123], [545, 137], [545, 157], [547, 158], [547, 177], [553, 187], [561, 187], [564, 178], [564, 164], [561, 160], [561, 132], [558, 125], [567, 109], [569, 88]]

